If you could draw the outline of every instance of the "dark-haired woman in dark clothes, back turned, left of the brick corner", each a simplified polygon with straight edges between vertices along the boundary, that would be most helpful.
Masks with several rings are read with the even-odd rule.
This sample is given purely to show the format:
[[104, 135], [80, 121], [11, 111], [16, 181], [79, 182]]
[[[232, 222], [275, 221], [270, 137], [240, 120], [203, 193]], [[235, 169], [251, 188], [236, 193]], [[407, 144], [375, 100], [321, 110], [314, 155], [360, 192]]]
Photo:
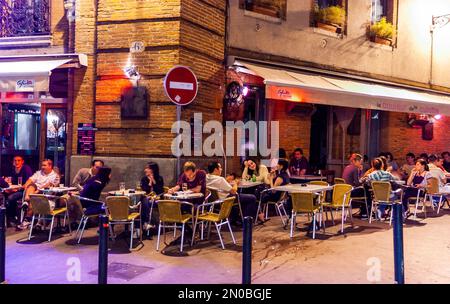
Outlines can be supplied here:
[[[103, 189], [111, 180], [111, 168], [102, 167], [98, 170], [98, 173], [91, 177], [84, 185], [83, 190], [80, 192], [82, 198], [98, 201]], [[86, 209], [86, 215], [103, 214], [103, 204], [93, 202], [89, 200], [80, 199], [81, 205]]]

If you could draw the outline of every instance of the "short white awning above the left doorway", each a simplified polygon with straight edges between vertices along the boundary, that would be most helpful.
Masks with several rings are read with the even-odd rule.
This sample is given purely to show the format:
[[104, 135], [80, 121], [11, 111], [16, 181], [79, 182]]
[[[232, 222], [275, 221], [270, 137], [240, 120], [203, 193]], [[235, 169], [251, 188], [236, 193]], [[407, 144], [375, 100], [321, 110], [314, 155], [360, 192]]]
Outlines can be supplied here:
[[0, 57], [0, 92], [46, 92], [53, 70], [82, 66], [84, 54]]

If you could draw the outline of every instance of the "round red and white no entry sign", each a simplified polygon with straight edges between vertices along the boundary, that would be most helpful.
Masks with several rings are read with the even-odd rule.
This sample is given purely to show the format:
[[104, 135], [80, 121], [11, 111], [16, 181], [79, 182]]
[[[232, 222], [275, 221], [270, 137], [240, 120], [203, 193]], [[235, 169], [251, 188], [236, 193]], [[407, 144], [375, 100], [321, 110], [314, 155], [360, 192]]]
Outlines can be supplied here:
[[164, 78], [164, 91], [175, 104], [188, 105], [197, 96], [197, 77], [188, 67], [175, 66]]

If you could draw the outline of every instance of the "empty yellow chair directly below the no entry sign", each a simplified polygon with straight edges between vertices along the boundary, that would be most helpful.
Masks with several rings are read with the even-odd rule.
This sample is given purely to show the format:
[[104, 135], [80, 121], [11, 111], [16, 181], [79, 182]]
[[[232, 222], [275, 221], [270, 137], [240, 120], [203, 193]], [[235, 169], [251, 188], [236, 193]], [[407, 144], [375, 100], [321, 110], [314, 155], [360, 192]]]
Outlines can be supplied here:
[[[156, 251], [159, 251], [159, 240], [161, 236], [161, 228], [163, 228], [164, 238], [166, 237], [166, 228], [174, 228], [174, 236], [176, 236], [176, 229], [181, 228], [181, 245], [180, 252], [183, 252], [184, 244], [184, 227], [193, 218], [194, 205], [188, 202], [176, 200], [160, 200], [157, 201], [159, 210], [159, 227], [158, 227], [158, 241], [156, 242]], [[182, 214], [181, 206], [187, 205], [191, 209], [191, 213]], [[172, 224], [172, 225], [170, 225]]]

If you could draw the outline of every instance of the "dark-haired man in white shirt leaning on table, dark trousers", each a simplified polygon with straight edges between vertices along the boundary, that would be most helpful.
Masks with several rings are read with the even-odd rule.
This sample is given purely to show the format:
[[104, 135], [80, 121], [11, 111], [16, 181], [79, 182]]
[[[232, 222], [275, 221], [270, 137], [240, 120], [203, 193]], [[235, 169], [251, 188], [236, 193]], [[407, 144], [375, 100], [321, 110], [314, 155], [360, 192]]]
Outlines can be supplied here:
[[220, 163], [212, 162], [209, 164], [208, 175], [206, 175], [206, 187], [217, 189], [220, 199], [239, 195], [243, 216], [255, 217], [258, 208], [256, 196], [244, 193], [237, 194], [237, 185], [237, 182], [230, 184], [222, 177], [222, 166]]

